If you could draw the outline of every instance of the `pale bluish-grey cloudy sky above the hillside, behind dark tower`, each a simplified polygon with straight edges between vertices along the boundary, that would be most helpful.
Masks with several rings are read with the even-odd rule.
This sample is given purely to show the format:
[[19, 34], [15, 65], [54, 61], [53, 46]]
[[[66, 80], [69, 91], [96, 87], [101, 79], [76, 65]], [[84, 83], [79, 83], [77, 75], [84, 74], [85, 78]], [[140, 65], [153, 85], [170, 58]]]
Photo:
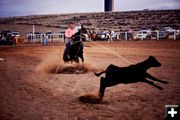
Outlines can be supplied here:
[[[180, 0], [114, 0], [115, 11], [180, 9]], [[0, 17], [103, 12], [104, 0], [0, 0]]]

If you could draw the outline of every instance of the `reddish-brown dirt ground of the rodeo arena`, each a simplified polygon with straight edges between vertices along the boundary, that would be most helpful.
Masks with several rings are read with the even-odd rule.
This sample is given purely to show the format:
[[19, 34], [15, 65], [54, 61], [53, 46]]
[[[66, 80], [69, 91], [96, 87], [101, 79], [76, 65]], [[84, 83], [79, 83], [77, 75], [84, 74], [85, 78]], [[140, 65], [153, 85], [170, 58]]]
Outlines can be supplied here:
[[[63, 49], [63, 43], [0, 46], [6, 60], [0, 61], [0, 120], [163, 120], [166, 104], [180, 104], [180, 41], [86, 42], [85, 74], [52, 72], [63, 65]], [[99, 104], [78, 100], [98, 92], [100, 78], [93, 71], [149, 55], [162, 66], [148, 72], [169, 82], [155, 82], [162, 91], [146, 83], [120, 84], [107, 88]]]

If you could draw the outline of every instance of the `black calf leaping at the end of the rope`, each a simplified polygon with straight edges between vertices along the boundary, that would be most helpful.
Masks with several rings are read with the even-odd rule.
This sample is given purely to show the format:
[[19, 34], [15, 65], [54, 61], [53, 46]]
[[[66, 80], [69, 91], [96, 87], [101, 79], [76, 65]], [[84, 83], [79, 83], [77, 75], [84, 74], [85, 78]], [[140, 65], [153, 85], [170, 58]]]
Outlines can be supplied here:
[[129, 84], [136, 82], [145, 82], [162, 90], [162, 87], [146, 79], [149, 78], [151, 80], [167, 84], [168, 82], [159, 80], [146, 72], [151, 67], [160, 66], [161, 63], [158, 62], [153, 56], [150, 56], [147, 60], [141, 63], [130, 65], [128, 67], [118, 67], [111, 64], [105, 71], [95, 73], [96, 76], [100, 76], [101, 74], [105, 73], [105, 78], [101, 77], [99, 96], [103, 98], [106, 87], [111, 87], [120, 83]]

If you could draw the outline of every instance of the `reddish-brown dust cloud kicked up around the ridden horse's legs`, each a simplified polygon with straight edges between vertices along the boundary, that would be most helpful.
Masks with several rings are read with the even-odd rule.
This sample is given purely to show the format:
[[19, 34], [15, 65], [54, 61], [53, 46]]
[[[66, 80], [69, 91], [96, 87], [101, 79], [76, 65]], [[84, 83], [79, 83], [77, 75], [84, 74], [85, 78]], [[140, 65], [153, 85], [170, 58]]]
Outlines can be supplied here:
[[64, 63], [62, 58], [57, 51], [49, 53], [42, 57], [35, 70], [55, 74], [85, 74], [103, 70], [102, 66], [92, 61], [89, 56], [85, 56], [85, 62], [79, 64], [75, 62]]

